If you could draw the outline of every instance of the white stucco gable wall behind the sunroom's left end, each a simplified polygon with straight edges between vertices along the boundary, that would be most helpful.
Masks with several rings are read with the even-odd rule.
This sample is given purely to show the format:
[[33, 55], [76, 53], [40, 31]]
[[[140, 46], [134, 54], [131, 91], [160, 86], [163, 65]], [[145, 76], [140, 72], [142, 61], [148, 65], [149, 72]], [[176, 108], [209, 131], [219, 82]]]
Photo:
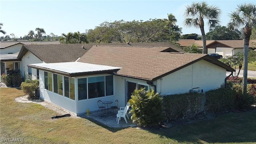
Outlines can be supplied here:
[[[28, 64], [38, 64], [42, 63], [42, 60], [37, 58], [34, 54], [31, 52], [27, 52], [21, 60], [20, 64], [20, 70], [21, 70], [21, 76], [26, 79], [28, 76]], [[36, 69], [33, 70], [32, 68], [32, 78], [36, 78]]]

